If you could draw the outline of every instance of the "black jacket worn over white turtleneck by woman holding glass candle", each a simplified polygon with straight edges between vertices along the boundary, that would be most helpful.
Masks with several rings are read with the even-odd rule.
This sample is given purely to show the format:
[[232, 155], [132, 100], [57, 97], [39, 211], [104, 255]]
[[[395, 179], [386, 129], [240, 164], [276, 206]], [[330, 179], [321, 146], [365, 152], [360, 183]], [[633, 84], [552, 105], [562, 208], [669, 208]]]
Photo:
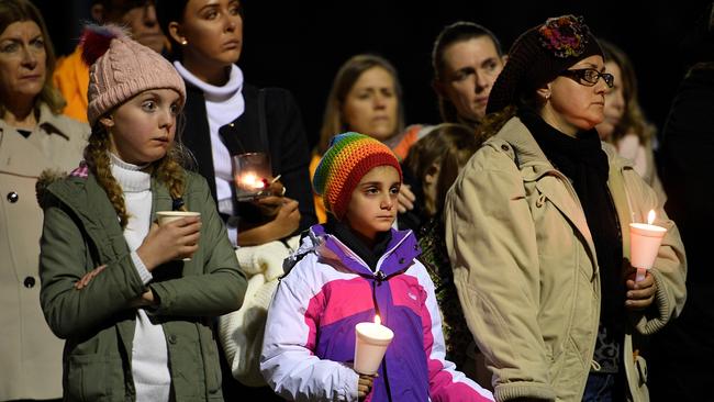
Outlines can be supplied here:
[[[187, 82], [187, 100], [182, 142], [191, 150], [198, 172], [205, 177], [215, 194], [215, 172], [209, 121], [203, 92]], [[258, 93], [264, 91], [267, 144], [260, 136]], [[268, 152], [272, 165], [272, 176], [282, 175], [280, 181], [286, 187], [286, 197], [300, 203], [299, 232], [317, 222], [310, 185], [310, 148], [302, 126], [300, 110], [290, 92], [280, 88], [258, 90], [250, 85], [243, 86], [245, 112], [232, 123], [220, 129], [219, 133], [231, 155], [246, 152]], [[241, 220], [259, 222], [260, 213], [247, 202], [237, 204]]]

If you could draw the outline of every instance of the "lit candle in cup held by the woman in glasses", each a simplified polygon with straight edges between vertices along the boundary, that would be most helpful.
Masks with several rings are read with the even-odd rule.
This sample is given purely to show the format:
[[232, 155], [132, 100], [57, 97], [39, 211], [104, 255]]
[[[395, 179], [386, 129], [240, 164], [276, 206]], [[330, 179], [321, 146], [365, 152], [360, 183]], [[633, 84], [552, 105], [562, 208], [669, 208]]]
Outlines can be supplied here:
[[637, 268], [635, 282], [645, 279], [646, 271], [655, 264], [662, 237], [667, 233], [665, 227], [652, 224], [655, 217], [655, 211], [650, 210], [647, 214], [647, 223], [629, 224], [629, 264]]

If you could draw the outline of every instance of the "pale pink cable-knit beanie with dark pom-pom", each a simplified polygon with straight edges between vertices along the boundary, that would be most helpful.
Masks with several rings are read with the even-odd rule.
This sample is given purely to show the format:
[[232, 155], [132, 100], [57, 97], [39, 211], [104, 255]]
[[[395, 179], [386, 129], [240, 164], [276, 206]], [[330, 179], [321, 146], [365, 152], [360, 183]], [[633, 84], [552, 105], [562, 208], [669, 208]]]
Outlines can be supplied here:
[[80, 41], [89, 68], [87, 120], [99, 118], [147, 89], [172, 89], [186, 101], [186, 86], [160, 54], [131, 40], [115, 25], [90, 25]]

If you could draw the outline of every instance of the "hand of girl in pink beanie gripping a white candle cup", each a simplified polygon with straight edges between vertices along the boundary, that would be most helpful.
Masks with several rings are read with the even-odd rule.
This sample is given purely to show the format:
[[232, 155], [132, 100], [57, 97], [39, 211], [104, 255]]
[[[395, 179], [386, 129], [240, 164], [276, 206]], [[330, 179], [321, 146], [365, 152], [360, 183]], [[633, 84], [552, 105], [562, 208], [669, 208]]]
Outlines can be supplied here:
[[153, 223], [136, 254], [152, 271], [172, 259], [191, 257], [199, 248], [200, 235], [201, 219], [198, 216], [187, 216], [160, 226]]

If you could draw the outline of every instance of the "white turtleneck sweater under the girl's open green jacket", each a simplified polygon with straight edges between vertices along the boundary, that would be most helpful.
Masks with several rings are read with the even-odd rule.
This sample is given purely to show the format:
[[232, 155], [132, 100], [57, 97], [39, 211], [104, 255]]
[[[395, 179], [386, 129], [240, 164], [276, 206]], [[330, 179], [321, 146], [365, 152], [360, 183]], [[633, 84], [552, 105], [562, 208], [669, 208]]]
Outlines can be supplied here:
[[[152, 272], [136, 254], [152, 224], [152, 178], [142, 171], [145, 166], [127, 164], [111, 156], [112, 175], [124, 192], [129, 222], [124, 238], [132, 252], [131, 257], [144, 284], [152, 279]], [[137, 402], [168, 401], [171, 375], [168, 369], [168, 348], [160, 324], [153, 324], [144, 309], [136, 310], [136, 327], [132, 345], [132, 376]]]

